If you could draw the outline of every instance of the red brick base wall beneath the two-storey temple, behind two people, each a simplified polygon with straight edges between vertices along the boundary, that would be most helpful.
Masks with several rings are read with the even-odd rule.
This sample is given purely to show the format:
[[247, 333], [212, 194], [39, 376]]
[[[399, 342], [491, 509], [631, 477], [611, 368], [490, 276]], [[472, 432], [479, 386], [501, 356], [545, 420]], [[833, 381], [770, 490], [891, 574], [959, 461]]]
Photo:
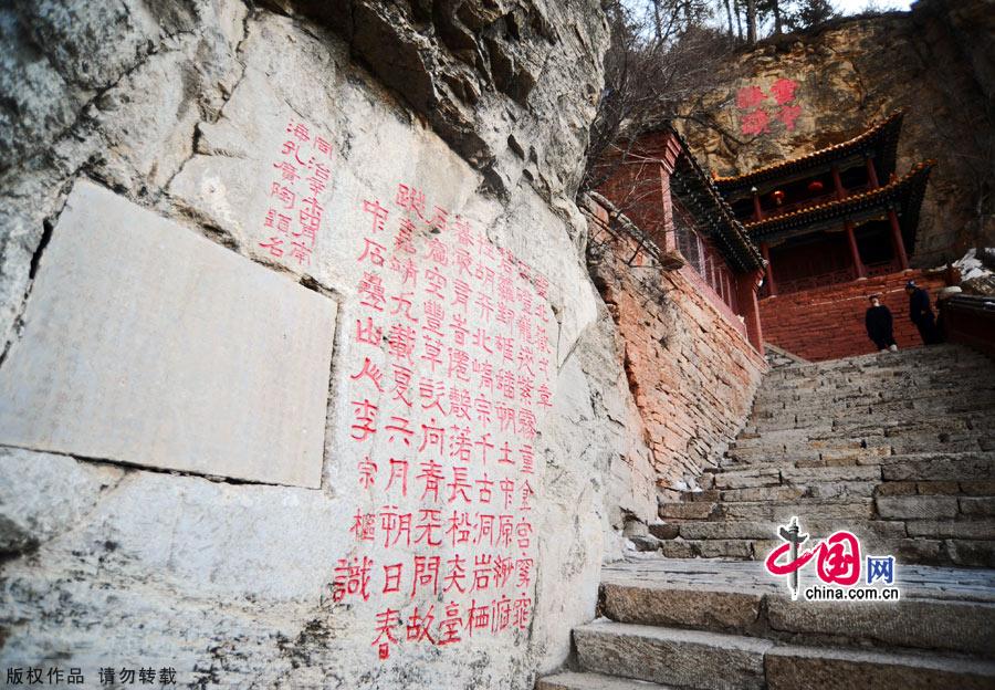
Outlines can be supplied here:
[[919, 331], [909, 321], [904, 288], [910, 279], [930, 292], [934, 304], [936, 292], [946, 285], [942, 274], [912, 271], [765, 297], [760, 302], [764, 338], [813, 362], [876, 352], [863, 315], [870, 306], [868, 296], [880, 293], [881, 303], [894, 317], [898, 346], [922, 345]]

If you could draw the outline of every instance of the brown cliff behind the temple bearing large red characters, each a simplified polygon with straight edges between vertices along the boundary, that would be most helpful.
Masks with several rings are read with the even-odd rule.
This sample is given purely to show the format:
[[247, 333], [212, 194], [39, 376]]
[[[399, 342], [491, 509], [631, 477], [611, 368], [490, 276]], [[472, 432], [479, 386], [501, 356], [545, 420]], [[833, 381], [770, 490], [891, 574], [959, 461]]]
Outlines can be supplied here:
[[932, 266], [995, 241], [989, 0], [920, 0], [911, 12], [832, 22], [739, 54], [703, 98], [715, 128], [681, 125], [721, 175], [846, 140], [898, 108], [896, 172], [934, 158], [913, 263]]

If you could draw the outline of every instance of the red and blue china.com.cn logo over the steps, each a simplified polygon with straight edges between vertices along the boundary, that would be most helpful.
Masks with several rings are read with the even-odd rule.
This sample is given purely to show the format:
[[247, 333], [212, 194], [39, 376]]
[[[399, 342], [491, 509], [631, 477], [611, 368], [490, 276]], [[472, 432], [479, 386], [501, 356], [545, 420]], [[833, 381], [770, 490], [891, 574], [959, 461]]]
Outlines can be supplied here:
[[808, 534], [802, 534], [798, 519], [792, 518], [788, 524], [777, 529], [777, 535], [784, 543], [771, 552], [764, 567], [771, 575], [787, 577], [792, 599], [797, 599], [800, 593], [799, 572], [813, 560], [815, 574], [821, 585], [807, 587], [800, 593], [805, 595], [805, 599], [869, 602], [899, 599], [898, 587], [874, 586], [894, 584], [894, 556], [868, 555], [865, 565], [860, 540], [855, 534], [841, 530], [802, 551], [800, 546], [808, 541]]

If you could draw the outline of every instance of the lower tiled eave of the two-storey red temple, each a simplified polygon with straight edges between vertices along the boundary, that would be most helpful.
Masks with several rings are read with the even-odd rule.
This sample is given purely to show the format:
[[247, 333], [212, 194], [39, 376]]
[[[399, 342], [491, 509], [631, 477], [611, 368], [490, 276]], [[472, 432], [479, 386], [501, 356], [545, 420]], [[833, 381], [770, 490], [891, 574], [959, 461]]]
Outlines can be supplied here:
[[935, 163], [920, 163], [903, 178], [860, 195], [837, 199], [783, 216], [745, 223], [755, 242], [776, 243], [821, 230], [839, 230], [845, 221], [859, 223], [880, 218], [894, 210], [901, 219], [902, 232], [911, 240], [919, 222], [919, 209], [925, 194], [930, 171]]

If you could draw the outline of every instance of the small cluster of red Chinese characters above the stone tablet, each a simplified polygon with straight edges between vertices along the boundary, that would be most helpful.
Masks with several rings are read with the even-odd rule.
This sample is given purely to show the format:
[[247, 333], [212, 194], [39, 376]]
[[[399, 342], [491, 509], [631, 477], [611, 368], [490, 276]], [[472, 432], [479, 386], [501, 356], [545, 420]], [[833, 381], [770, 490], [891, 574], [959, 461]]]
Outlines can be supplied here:
[[258, 244], [273, 259], [306, 266], [325, 219], [320, 199], [332, 180], [332, 145], [304, 123], [292, 119], [285, 129], [272, 161], [270, 203], [262, 221], [266, 239]]

